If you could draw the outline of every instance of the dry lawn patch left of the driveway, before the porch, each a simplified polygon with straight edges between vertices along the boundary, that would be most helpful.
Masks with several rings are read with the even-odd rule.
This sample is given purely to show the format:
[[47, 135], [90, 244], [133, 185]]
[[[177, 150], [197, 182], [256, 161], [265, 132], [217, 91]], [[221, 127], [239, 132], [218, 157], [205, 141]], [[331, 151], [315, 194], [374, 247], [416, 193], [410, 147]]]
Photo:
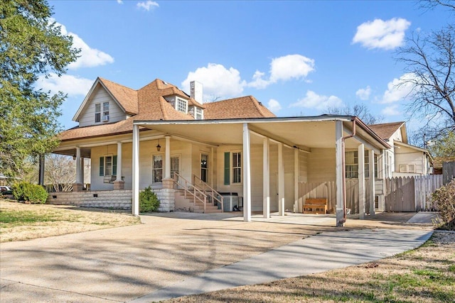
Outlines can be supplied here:
[[119, 211], [0, 200], [0, 242], [23, 241], [140, 223], [138, 217]]

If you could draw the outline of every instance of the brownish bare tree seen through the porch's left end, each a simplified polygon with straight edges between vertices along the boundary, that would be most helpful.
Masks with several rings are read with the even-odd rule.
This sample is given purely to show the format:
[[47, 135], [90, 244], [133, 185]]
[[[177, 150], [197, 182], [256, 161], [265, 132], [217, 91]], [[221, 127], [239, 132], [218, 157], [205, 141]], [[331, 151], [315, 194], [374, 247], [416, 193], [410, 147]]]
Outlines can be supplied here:
[[70, 192], [75, 183], [75, 162], [66, 155], [47, 155], [44, 175], [45, 184], [52, 184], [55, 192]]

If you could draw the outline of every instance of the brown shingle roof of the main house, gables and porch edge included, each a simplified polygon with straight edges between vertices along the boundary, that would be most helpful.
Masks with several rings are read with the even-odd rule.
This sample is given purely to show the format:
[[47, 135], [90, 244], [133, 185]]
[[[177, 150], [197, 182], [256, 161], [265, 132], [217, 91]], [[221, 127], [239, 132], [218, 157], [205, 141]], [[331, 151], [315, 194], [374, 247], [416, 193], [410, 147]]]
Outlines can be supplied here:
[[188, 100], [188, 105], [199, 106], [204, 109], [205, 119], [237, 119], [263, 118], [275, 115], [263, 106], [255, 97], [240, 97], [208, 104], [200, 104], [173, 84], [155, 79], [141, 89], [134, 90], [121, 84], [103, 78], [97, 78], [75, 115], [78, 121], [85, 104], [90, 100], [90, 94], [100, 84], [117, 101], [127, 114], [132, 115], [127, 120], [115, 123], [103, 123], [95, 126], [70, 128], [59, 134], [61, 141], [70, 141], [80, 138], [110, 136], [132, 132], [134, 120], [194, 120], [190, 114], [177, 111], [166, 101], [165, 97], [176, 95]]

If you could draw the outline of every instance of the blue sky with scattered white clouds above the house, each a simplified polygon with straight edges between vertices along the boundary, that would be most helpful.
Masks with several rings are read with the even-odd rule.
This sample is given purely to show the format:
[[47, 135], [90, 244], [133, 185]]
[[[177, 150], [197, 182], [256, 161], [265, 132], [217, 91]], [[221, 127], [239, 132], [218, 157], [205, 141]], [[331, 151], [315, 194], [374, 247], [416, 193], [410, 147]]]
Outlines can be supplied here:
[[[365, 104], [384, 122], [405, 121], [407, 88], [395, 50], [415, 31], [451, 18], [416, 1], [49, 1], [80, 58], [38, 87], [68, 94], [73, 115], [96, 77], [139, 89], [156, 78], [204, 101], [253, 95], [277, 116], [314, 116]], [[417, 128], [417, 119], [408, 130]]]

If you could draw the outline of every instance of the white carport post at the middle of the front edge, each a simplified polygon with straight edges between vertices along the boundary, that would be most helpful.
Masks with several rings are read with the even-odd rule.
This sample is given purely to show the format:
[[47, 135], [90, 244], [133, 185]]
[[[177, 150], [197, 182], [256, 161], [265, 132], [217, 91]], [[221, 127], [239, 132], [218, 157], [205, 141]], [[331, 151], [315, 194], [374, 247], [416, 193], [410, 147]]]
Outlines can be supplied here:
[[243, 221], [251, 221], [250, 130], [243, 123]]

